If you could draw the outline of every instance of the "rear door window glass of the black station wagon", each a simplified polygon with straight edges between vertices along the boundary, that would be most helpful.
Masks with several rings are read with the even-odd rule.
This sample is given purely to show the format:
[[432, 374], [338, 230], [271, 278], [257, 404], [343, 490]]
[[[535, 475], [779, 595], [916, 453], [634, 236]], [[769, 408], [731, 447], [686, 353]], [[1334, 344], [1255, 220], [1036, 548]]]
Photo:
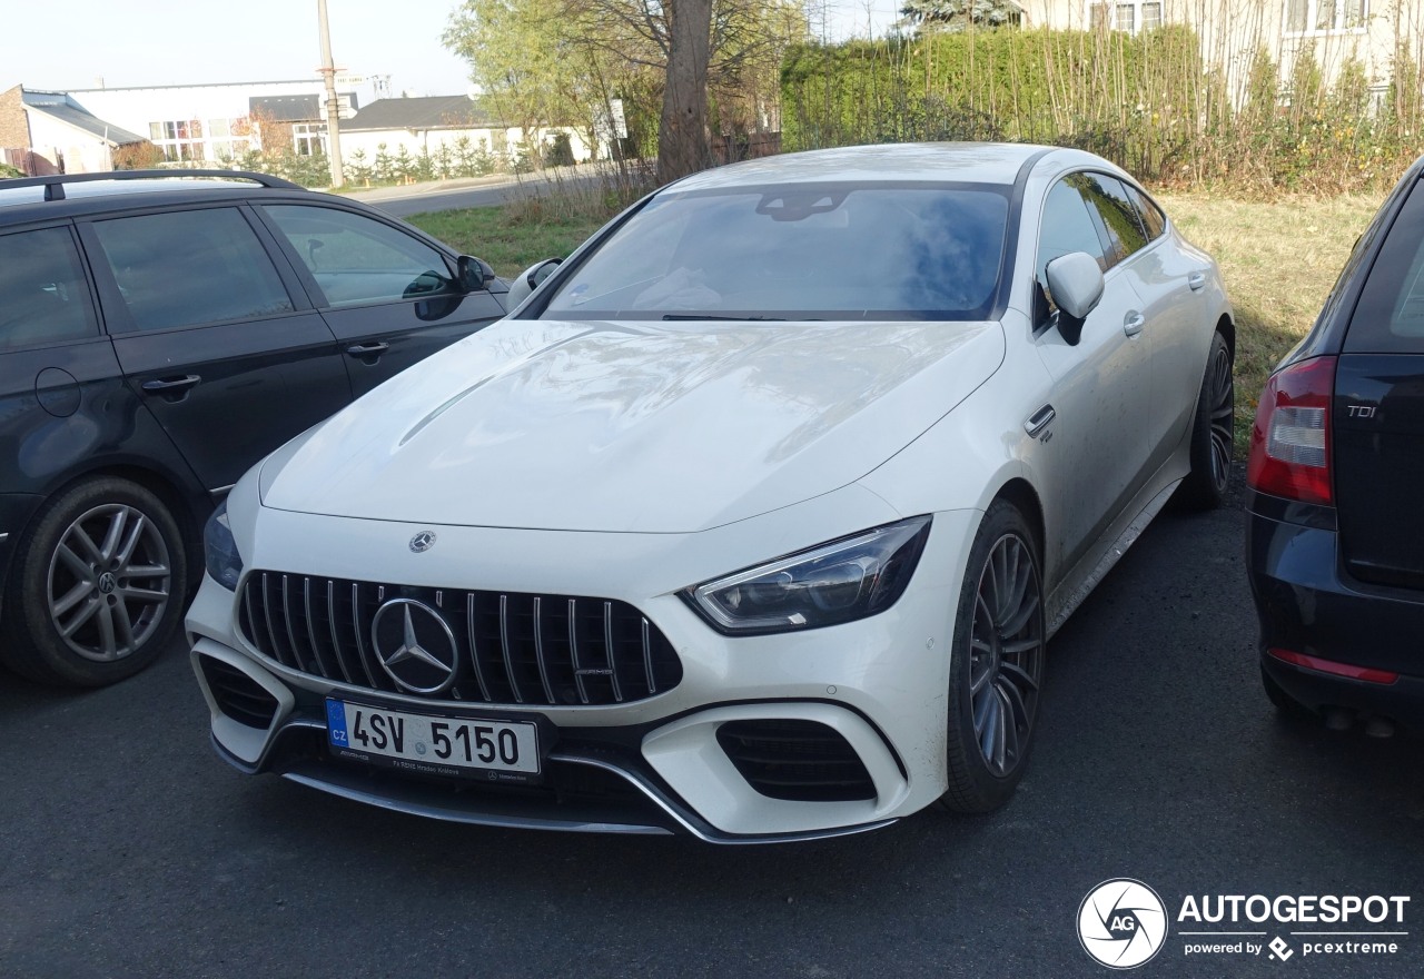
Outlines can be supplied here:
[[262, 242], [236, 208], [95, 221], [94, 233], [135, 330], [292, 310]]

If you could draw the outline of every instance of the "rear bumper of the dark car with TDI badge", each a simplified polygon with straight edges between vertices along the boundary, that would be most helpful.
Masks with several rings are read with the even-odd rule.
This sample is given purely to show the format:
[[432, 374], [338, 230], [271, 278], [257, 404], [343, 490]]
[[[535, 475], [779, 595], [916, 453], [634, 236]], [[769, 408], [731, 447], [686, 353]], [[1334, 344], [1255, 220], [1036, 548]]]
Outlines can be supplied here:
[[[1263, 494], [1247, 505], [1246, 566], [1262, 669], [1283, 692], [1316, 711], [1343, 707], [1424, 731], [1424, 593], [1350, 579], [1333, 511]], [[1398, 676], [1350, 679], [1282, 662], [1273, 649]]]

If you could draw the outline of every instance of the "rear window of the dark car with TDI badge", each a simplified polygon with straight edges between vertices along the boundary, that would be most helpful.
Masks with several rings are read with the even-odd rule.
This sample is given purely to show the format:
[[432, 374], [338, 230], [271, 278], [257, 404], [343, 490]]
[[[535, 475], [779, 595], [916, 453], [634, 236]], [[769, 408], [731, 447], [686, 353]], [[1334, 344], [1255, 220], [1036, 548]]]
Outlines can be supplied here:
[[[1356, 252], [1360, 252], [1358, 245]], [[1350, 262], [1356, 263], [1356, 256]], [[1349, 353], [1424, 353], [1424, 192], [1418, 185], [1380, 246], [1350, 319], [1344, 349]]]

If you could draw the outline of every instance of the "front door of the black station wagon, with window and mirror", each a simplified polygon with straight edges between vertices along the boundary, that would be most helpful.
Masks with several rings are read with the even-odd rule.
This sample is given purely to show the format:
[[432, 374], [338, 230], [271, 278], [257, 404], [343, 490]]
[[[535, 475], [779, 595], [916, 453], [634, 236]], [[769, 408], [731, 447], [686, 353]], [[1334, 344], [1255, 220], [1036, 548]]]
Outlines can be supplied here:
[[460, 290], [450, 259], [394, 223], [323, 203], [258, 211], [318, 297], [357, 397], [504, 316], [496, 296]]

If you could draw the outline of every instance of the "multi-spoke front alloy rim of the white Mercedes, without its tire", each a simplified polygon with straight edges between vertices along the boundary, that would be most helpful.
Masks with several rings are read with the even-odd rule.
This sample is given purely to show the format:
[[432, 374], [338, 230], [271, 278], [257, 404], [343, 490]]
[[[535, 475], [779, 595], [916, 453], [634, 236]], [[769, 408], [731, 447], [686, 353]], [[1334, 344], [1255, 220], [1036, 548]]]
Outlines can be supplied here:
[[995, 776], [1024, 760], [1044, 670], [1044, 616], [1028, 544], [1000, 536], [980, 572], [970, 630], [974, 740]]

